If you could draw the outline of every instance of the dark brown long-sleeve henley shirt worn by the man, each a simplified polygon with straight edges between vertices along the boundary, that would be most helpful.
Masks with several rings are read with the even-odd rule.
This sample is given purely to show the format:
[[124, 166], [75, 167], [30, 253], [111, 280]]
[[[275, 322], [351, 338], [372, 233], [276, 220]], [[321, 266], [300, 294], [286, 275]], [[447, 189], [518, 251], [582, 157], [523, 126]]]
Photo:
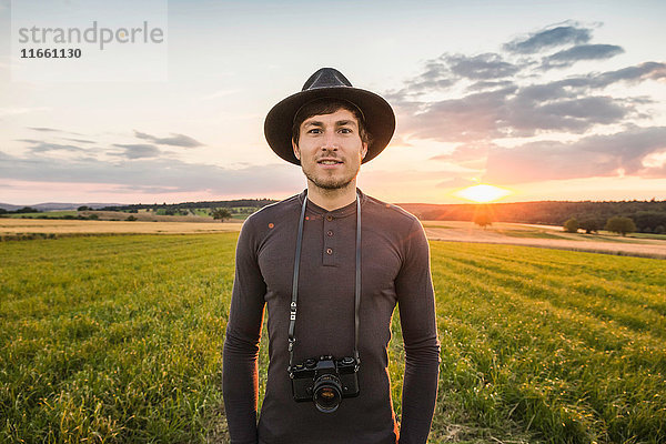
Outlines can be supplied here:
[[[232, 443], [395, 444], [391, 402], [391, 319], [397, 303], [405, 346], [400, 443], [425, 443], [432, 422], [440, 343], [428, 245], [413, 215], [360, 193], [362, 295], [360, 395], [334, 413], [295, 402], [287, 373], [287, 330], [295, 243], [305, 192], [266, 206], [243, 224], [223, 357]], [[307, 202], [299, 279], [294, 363], [354, 347], [356, 203], [326, 211]], [[268, 306], [269, 372], [256, 425], [256, 357]]]

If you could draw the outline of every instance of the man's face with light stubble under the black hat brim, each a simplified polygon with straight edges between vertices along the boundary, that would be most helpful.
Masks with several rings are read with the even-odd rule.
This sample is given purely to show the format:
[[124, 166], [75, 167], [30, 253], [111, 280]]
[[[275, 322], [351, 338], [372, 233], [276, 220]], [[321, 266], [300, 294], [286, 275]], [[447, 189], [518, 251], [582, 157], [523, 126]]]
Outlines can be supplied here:
[[292, 144], [307, 180], [324, 190], [343, 189], [352, 183], [367, 152], [356, 118], [345, 109], [305, 119], [299, 144]]

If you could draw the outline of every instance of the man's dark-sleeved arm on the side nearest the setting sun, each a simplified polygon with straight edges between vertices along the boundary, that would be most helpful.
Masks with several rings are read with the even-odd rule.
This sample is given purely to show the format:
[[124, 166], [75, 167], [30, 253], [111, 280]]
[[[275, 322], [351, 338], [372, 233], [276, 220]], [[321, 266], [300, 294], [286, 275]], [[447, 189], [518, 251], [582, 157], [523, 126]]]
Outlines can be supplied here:
[[437, 398], [440, 342], [425, 232], [414, 221], [395, 280], [405, 344], [400, 444], [425, 444]]

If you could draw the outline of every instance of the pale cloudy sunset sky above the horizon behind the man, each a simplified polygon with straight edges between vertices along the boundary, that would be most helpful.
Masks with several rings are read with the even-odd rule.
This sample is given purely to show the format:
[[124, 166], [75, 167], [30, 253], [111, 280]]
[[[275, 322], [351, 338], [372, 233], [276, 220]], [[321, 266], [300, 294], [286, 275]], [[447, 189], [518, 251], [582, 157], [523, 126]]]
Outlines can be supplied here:
[[[21, 26], [93, 20], [162, 41], [16, 58]], [[666, 200], [664, 20], [656, 0], [0, 0], [0, 202], [299, 193], [263, 122], [322, 67], [394, 108], [359, 175], [377, 199], [460, 203], [481, 183], [504, 202]]]

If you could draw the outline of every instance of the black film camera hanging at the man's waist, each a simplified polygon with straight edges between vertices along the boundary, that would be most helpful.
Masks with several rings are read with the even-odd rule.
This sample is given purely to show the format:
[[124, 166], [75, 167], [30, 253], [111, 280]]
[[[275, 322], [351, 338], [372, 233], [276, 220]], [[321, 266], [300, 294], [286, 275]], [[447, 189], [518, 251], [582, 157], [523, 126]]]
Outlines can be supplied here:
[[352, 356], [320, 356], [290, 367], [296, 401], [313, 401], [320, 412], [333, 413], [343, 397], [359, 396], [359, 364]]

